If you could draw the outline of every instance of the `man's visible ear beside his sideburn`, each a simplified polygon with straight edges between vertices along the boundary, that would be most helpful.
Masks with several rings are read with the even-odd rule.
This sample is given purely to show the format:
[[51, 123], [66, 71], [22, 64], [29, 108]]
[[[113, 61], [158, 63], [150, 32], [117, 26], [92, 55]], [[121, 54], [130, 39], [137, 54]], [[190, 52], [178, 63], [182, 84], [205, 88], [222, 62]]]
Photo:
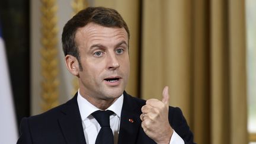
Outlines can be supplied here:
[[68, 71], [74, 75], [78, 76], [79, 74], [79, 63], [76, 57], [72, 55], [66, 55], [65, 57], [66, 60], [66, 67], [68, 68]]

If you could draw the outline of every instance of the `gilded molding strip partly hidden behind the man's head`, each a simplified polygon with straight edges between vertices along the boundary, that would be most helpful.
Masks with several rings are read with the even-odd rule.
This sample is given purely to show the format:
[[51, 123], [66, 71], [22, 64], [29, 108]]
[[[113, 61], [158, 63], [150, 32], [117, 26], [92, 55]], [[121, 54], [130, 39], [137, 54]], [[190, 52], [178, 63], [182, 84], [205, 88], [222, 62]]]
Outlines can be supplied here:
[[[71, 7], [73, 9], [73, 14], [72, 15], [75, 15], [79, 11], [81, 11], [82, 9], [87, 8], [88, 7], [88, 2], [85, 1], [85, 0], [73, 0], [71, 2]], [[73, 90], [72, 90], [72, 95], [73, 95], [73, 94], [75, 94], [75, 92], [78, 91], [78, 88], [79, 88], [78, 79], [76, 77], [73, 78], [72, 85], [73, 85]]]

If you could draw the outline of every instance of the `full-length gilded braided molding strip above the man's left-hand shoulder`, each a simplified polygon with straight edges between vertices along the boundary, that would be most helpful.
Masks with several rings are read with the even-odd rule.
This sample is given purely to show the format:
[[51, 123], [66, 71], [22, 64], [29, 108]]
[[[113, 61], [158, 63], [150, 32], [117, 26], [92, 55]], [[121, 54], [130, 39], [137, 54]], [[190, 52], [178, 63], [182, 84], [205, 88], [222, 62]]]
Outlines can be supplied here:
[[41, 110], [59, 105], [56, 0], [41, 0]]

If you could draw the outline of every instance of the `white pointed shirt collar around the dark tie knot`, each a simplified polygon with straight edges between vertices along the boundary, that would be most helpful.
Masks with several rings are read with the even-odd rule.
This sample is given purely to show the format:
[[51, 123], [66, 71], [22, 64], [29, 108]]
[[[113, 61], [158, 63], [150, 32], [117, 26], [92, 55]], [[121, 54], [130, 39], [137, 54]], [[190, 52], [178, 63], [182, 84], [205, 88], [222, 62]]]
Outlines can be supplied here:
[[[95, 107], [93, 104], [89, 103], [79, 92], [78, 89], [78, 107], [81, 114], [82, 120], [87, 119], [87, 117], [93, 113], [94, 111], [100, 110], [99, 108]], [[123, 94], [117, 98], [117, 100], [107, 108], [107, 110], [113, 111], [119, 118], [121, 117], [121, 108], [123, 107]]]

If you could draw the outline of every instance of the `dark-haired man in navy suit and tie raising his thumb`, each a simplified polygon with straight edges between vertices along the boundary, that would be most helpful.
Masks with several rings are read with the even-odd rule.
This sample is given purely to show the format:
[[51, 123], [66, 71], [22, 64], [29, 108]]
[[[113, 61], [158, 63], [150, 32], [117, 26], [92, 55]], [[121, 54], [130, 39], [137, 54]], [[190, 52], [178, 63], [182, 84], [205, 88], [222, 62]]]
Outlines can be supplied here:
[[89, 7], [71, 18], [63, 28], [62, 44], [79, 90], [67, 103], [24, 118], [17, 143], [193, 143], [180, 108], [168, 106], [168, 87], [162, 101], [140, 100], [124, 91], [129, 36], [114, 9]]

